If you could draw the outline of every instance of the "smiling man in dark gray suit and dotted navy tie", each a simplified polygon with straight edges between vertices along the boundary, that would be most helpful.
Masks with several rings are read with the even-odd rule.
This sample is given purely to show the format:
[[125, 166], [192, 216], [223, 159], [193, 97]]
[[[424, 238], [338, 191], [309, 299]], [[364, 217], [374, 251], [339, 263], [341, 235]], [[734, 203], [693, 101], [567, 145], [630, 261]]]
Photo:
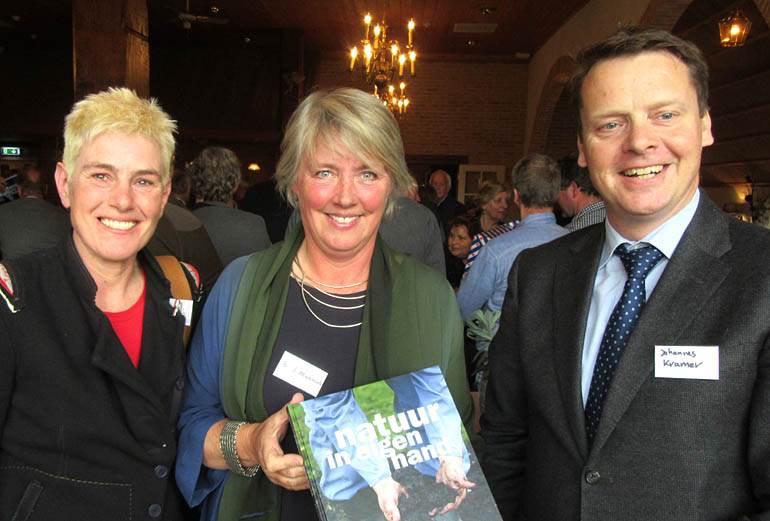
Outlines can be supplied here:
[[503, 517], [770, 519], [770, 234], [698, 190], [703, 57], [624, 29], [573, 92], [607, 220], [511, 269], [482, 420]]

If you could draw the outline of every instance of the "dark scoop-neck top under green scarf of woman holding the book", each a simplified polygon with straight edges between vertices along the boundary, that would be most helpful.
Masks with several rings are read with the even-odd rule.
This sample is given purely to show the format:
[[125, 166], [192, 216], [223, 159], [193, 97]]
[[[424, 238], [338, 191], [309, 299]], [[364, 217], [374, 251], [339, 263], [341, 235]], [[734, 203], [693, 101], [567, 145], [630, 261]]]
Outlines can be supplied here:
[[[325, 302], [338, 307], [350, 308], [364, 303], [365, 291], [351, 295], [332, 295], [304, 286], [305, 294], [298, 281], [289, 284], [286, 309], [281, 321], [275, 348], [268, 364], [264, 382], [265, 408], [273, 414], [291, 400], [301, 389], [273, 376], [278, 362], [289, 352], [328, 373], [318, 396], [343, 391], [353, 387], [358, 337], [361, 326], [335, 328], [321, 323], [308, 310], [329, 324], [358, 324], [363, 318], [363, 307], [337, 309], [321, 304]], [[316, 300], [318, 299], [318, 300]], [[303, 392], [306, 399], [313, 398]], [[297, 453], [294, 436], [288, 433], [281, 443], [286, 453]], [[281, 499], [281, 521], [308, 521], [317, 519], [313, 498], [309, 491], [291, 492], [284, 490]]]

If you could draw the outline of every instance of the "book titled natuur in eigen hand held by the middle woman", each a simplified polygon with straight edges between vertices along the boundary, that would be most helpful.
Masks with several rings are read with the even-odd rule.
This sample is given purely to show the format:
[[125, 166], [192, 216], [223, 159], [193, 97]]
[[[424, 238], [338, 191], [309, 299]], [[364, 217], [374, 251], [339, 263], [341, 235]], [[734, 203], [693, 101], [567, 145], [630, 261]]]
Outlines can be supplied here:
[[322, 521], [502, 521], [437, 366], [288, 411]]

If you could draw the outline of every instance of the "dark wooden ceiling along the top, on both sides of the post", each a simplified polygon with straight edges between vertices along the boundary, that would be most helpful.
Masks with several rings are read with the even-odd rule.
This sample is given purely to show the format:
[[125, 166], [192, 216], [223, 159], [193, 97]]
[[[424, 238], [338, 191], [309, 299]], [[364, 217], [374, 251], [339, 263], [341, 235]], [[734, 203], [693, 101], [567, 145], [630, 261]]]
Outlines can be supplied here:
[[[188, 11], [189, 3], [189, 11]], [[151, 39], [258, 38], [265, 30], [303, 31], [313, 52], [346, 52], [363, 36], [363, 16], [385, 18], [403, 40], [406, 22], [426, 56], [494, 56], [526, 61], [587, 0], [148, 0]], [[0, 45], [56, 40], [71, 34], [71, 0], [3, 0]], [[214, 11], [212, 12], [212, 8]], [[183, 28], [178, 13], [207, 17]], [[212, 23], [226, 19], [226, 24]], [[456, 32], [457, 24], [494, 26], [490, 33]], [[490, 25], [491, 24], [491, 25]], [[476, 26], [478, 27], [478, 25]], [[517, 58], [518, 57], [518, 58]]]

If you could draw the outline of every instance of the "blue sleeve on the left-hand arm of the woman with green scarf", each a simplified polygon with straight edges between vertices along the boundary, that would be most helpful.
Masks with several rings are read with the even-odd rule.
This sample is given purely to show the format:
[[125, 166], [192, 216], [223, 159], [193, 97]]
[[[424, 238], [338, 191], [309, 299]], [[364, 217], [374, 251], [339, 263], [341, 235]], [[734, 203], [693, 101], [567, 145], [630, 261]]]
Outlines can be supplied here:
[[203, 443], [212, 425], [225, 417], [220, 375], [230, 308], [248, 257], [233, 261], [219, 277], [187, 355], [187, 382], [179, 416], [176, 481], [190, 506], [201, 504], [224, 483], [228, 471], [203, 466]]

